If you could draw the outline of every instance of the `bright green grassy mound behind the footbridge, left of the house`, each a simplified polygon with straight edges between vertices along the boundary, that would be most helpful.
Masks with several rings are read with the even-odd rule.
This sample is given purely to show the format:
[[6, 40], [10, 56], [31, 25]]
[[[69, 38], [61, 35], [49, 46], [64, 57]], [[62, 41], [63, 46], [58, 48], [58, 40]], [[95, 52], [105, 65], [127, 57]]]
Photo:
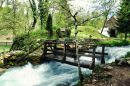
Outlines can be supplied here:
[[[78, 38], [90, 38], [90, 35], [92, 38], [106, 38], [101, 33], [98, 32], [98, 30], [92, 26], [78, 26]], [[70, 37], [75, 37], [75, 28], [73, 27], [71, 30]]]

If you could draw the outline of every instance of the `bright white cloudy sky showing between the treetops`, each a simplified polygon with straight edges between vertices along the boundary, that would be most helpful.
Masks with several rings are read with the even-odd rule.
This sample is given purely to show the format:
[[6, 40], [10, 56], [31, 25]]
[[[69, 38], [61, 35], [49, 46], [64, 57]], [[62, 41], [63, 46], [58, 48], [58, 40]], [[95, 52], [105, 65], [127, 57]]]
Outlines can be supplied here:
[[[19, 0], [20, 2], [27, 2], [29, 0]], [[68, 0], [69, 3], [71, 4], [71, 8], [73, 9], [73, 13], [75, 13], [77, 10], [82, 9], [82, 14], [87, 13], [87, 11], [89, 12], [93, 12], [97, 6], [100, 6], [99, 3], [93, 3], [93, 0]], [[37, 0], [35, 0], [36, 4], [38, 5]], [[115, 6], [118, 6], [120, 3], [120, 0], [117, 0]], [[117, 12], [117, 8], [113, 8], [112, 11], [114, 11], [115, 13]], [[115, 13], [112, 13], [108, 16], [108, 19], [114, 15]]]

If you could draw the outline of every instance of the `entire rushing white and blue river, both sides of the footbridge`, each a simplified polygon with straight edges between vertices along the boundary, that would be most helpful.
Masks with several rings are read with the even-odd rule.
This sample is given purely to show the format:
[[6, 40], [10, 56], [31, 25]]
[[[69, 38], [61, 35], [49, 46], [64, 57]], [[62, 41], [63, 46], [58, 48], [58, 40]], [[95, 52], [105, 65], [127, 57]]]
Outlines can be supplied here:
[[[96, 51], [100, 52], [101, 47]], [[124, 47], [106, 47], [106, 62], [112, 62], [130, 51], [130, 46]], [[88, 57], [80, 59], [90, 60]], [[100, 58], [96, 59], [100, 62]], [[82, 68], [84, 76], [91, 74], [91, 70]], [[38, 66], [32, 66], [30, 63], [23, 67], [8, 69], [0, 76], [0, 86], [74, 86], [78, 82], [78, 68], [62, 64], [59, 62], [49, 62]]]

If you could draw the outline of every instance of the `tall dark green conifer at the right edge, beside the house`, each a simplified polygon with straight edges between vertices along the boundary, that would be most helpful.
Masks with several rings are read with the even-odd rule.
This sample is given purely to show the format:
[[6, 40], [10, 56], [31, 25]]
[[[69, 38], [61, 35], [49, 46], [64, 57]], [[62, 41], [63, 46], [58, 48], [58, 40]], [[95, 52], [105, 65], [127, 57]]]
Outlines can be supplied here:
[[130, 32], [130, 1], [123, 0], [120, 7], [121, 9], [118, 12], [117, 30], [118, 32], [125, 33], [125, 39], [127, 39], [127, 33]]

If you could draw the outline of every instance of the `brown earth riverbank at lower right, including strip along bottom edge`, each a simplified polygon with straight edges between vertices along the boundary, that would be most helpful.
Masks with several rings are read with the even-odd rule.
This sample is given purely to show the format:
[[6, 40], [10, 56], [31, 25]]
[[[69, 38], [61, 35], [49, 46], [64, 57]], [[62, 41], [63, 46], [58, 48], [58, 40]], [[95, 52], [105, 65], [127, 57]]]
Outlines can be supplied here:
[[112, 77], [108, 81], [85, 84], [84, 86], [130, 86], [130, 67], [113, 66], [109, 73]]

